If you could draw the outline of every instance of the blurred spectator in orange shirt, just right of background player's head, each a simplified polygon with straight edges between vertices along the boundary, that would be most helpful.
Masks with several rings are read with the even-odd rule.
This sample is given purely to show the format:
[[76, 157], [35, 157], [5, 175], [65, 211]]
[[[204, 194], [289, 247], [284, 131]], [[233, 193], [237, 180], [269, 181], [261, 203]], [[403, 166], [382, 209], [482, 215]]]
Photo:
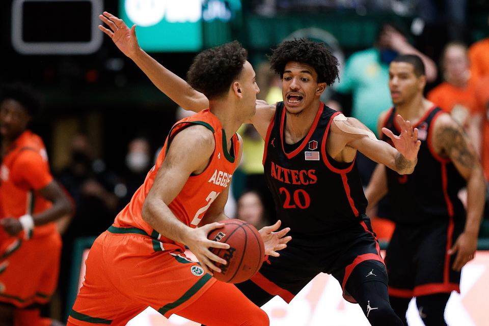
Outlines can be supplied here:
[[[442, 53], [441, 66], [445, 82], [433, 88], [427, 98], [450, 112], [453, 119], [469, 131], [470, 117], [477, 109], [477, 102], [465, 44], [448, 43]], [[473, 132], [469, 135], [471, 139], [479, 137]]]

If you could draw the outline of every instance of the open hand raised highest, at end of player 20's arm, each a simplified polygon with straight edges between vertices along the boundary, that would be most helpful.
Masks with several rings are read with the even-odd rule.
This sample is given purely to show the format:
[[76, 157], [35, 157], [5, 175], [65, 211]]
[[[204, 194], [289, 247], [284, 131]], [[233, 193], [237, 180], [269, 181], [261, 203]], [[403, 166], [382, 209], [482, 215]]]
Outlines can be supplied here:
[[107, 34], [122, 53], [132, 57], [139, 50], [138, 38], [136, 37], [136, 25], [127, 27], [124, 21], [106, 11], [103, 15], [98, 15], [101, 21], [107, 24], [110, 29], [98, 25], [98, 29]]

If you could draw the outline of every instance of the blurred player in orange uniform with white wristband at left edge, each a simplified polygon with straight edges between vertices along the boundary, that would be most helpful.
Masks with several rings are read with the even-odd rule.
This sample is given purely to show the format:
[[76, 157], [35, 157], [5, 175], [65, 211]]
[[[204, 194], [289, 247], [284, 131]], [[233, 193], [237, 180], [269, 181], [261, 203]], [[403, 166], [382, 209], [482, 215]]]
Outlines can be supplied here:
[[55, 221], [71, 203], [53, 181], [42, 139], [28, 129], [39, 102], [21, 85], [0, 95], [0, 325], [45, 325], [39, 304], [58, 283], [61, 237]]

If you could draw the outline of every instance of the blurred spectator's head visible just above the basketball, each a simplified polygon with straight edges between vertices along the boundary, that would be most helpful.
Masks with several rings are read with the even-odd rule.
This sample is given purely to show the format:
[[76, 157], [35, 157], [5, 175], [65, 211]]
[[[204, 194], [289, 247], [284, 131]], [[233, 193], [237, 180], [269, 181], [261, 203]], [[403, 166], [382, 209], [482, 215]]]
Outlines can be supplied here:
[[236, 218], [253, 224], [257, 229], [267, 225], [265, 208], [257, 191], [246, 190], [241, 194]]

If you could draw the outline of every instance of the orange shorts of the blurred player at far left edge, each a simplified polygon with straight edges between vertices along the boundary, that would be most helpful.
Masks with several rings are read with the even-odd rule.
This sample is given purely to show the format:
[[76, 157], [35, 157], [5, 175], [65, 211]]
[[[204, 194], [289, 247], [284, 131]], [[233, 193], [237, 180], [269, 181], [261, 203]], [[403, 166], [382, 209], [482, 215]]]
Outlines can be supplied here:
[[0, 302], [25, 308], [47, 303], [58, 284], [61, 236], [51, 232], [0, 244]]

